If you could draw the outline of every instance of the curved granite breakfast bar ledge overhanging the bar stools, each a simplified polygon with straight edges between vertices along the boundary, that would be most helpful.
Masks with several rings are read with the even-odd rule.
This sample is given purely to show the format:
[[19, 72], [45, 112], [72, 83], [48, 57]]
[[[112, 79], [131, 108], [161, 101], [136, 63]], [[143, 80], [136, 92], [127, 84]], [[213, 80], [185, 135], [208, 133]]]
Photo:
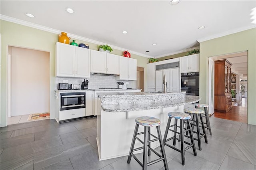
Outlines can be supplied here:
[[185, 96], [180, 99], [157, 101], [152, 103], [102, 104], [101, 107], [106, 112], [128, 112], [174, 107], [192, 104], [198, 101], [200, 101], [199, 96]]

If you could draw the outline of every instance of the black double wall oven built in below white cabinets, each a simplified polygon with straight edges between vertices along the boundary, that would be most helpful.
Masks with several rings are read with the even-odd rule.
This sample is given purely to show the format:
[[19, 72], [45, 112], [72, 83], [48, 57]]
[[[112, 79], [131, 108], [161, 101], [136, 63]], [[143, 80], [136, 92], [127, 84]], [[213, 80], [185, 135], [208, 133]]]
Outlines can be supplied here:
[[199, 72], [181, 73], [181, 90], [186, 95], [199, 96]]

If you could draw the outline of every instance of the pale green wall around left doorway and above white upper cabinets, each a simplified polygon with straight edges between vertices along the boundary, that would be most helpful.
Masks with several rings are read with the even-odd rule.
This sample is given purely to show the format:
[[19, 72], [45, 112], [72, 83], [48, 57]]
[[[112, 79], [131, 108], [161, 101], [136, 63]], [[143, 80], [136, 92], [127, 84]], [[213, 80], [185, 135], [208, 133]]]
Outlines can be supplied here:
[[[1, 127], [6, 126], [7, 120], [7, 49], [8, 45], [36, 49], [50, 52], [50, 113], [55, 113], [55, 43], [58, 42], [58, 34], [38, 30], [28, 26], [15, 24], [0, 20], [1, 33]], [[71, 37], [71, 40], [72, 37]], [[90, 49], [98, 50], [97, 45], [82, 40], [76, 40], [77, 43], [87, 43]], [[122, 55], [122, 51], [114, 49], [113, 54]], [[144, 67], [144, 77], [146, 77], [146, 64], [148, 58], [131, 54], [132, 58], [137, 59], [137, 66]], [[146, 78], [145, 78], [146, 79]], [[145, 81], [146, 82], [146, 81]], [[146, 84], [144, 84], [146, 87]], [[22, 89], [21, 89], [22, 90]], [[55, 114], [51, 114], [51, 119]]]

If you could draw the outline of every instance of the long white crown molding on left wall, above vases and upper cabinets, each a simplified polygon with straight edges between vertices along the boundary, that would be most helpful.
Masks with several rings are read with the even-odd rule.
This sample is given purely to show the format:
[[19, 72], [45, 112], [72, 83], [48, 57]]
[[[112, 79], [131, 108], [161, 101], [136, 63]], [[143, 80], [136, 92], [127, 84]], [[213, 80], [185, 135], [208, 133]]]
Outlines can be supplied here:
[[[16, 19], [16, 18], [5, 16], [5, 15], [0, 15], [0, 19], [8, 21], [8, 22], [13, 22], [13, 23], [16, 23], [16, 24], [20, 24], [20, 25], [23, 25], [23, 26], [28, 26], [28, 27], [31, 27], [31, 28], [36, 28], [38, 30], [43, 30], [43, 31], [51, 32], [51, 33], [54, 33], [54, 34], [60, 34], [62, 32], [60, 30], [56, 30], [56, 29], [53, 29], [53, 28], [41, 26], [41, 25], [38, 25], [38, 24], [33, 24], [31, 22], [19, 20], [19, 19]], [[82, 37], [82, 36], [77, 36], [75, 34], [71, 34], [71, 33], [68, 33], [68, 32], [67, 32], [67, 34], [71, 38], [82, 40], [82, 41], [85, 41], [85, 42], [90, 42], [90, 43], [95, 43], [95, 44], [104, 44], [104, 42], [99, 42], [99, 41], [92, 40], [92, 39], [89, 39], [89, 38], [85, 38], [85, 37]], [[135, 55], [140, 55], [142, 57], [147, 57], [147, 58], [151, 58], [152, 57], [150, 55], [145, 55], [145, 54], [142, 54], [142, 53], [139, 53], [139, 52], [136, 52], [136, 51], [132, 51], [132, 50], [126, 49], [126, 48], [118, 47], [116, 45], [111, 45], [109, 43], [107, 43], [107, 44], [110, 45], [113, 49], [118, 49], [118, 50], [121, 50], [121, 51], [128, 50], [130, 53], [135, 54]]]

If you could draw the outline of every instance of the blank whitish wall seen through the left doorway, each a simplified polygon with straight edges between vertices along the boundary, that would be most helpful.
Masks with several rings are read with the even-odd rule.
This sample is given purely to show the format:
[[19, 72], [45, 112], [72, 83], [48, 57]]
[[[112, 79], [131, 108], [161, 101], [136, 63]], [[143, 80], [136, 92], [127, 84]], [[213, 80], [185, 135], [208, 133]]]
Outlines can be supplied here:
[[50, 53], [11, 48], [11, 116], [50, 111]]

